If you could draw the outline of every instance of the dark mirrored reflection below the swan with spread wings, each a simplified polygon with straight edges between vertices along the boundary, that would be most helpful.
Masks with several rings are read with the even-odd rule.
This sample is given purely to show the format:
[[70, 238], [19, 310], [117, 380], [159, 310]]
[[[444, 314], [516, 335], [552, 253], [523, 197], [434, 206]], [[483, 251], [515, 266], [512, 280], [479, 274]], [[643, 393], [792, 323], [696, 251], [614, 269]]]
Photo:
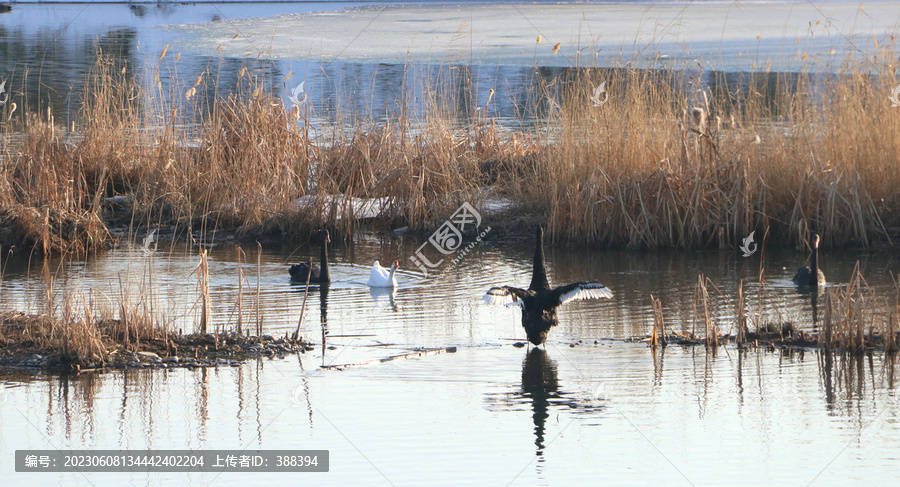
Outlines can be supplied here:
[[522, 361], [522, 396], [531, 400], [534, 419], [534, 444], [537, 455], [544, 454], [544, 431], [550, 400], [559, 397], [556, 362], [540, 348], [532, 348]]

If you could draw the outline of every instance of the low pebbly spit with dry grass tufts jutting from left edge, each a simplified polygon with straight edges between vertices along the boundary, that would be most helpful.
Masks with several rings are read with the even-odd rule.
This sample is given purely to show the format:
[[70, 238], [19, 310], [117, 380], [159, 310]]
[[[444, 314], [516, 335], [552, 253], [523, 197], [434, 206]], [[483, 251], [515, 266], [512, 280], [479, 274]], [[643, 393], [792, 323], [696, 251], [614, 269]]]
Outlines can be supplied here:
[[[156, 278], [153, 266], [149, 265], [152, 256], [152, 251], [145, 255], [146, 272], [140, 277], [120, 279], [120, 289], [112, 297], [102, 291], [82, 293], [77, 289], [70, 289], [60, 297], [55, 292], [56, 277], [45, 264], [42, 269], [44, 310], [35, 314], [0, 312], [0, 364], [83, 370], [131, 367], [138, 362], [160, 366], [161, 358], [167, 357], [165, 362], [170, 365], [212, 366], [221, 358], [281, 356], [308, 349], [309, 344], [296, 334], [294, 338], [285, 334], [278, 339], [264, 335], [259, 316], [259, 282], [255, 295], [250, 291], [253, 309], [247, 310], [256, 313], [255, 335], [251, 336], [249, 328], [241, 327], [245, 312], [243, 285], [239, 286], [236, 297], [236, 324], [232, 325], [233, 314], [214, 316], [205, 251], [200, 254], [194, 271], [199, 296], [191, 311], [199, 310], [197, 327], [187, 333], [174, 330], [165, 307], [159, 307], [153, 282]], [[258, 260], [257, 273], [260, 269]], [[238, 278], [241, 281], [245, 278], [241, 267]]]

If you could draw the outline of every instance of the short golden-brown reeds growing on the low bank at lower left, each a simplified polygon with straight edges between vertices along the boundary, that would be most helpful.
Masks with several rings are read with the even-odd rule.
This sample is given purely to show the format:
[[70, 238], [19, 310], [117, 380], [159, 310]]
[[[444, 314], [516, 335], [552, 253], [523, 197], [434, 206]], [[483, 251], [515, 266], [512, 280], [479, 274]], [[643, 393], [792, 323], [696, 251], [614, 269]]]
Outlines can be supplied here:
[[[239, 251], [239, 255], [244, 255], [243, 251]], [[175, 356], [178, 354], [179, 344], [218, 350], [222, 342], [234, 344], [237, 339], [246, 346], [259, 342], [260, 339], [267, 339], [263, 335], [259, 317], [259, 282], [255, 293], [250, 291], [257, 314], [256, 335], [250, 336], [251, 330], [248, 328], [241, 329], [243, 286], [239, 288], [236, 297], [239, 313], [236, 322], [233, 316], [213, 315], [209, 297], [209, 264], [205, 251], [199, 254], [199, 263], [192, 272], [197, 275], [199, 288], [195, 304], [195, 309], [199, 308], [197, 328], [189, 330], [188, 335], [182, 334], [182, 330], [173, 330], [165, 311], [156, 304], [158, 291], [154, 291], [155, 271], [150, 263], [152, 257], [152, 253], [147, 254], [146, 271], [142, 272], [140, 278], [119, 280], [115, 296], [107, 296], [102, 291], [93, 289], [87, 292], [70, 289], [62, 296], [57, 296], [56, 278], [46, 264], [48, 260], [45, 260], [42, 269], [45, 309], [38, 314], [0, 312], [0, 348], [4, 348], [10, 357], [39, 353], [53, 359], [52, 367], [68, 366], [77, 369], [104, 367], [110, 362], [121, 361], [123, 355], [120, 353], [125, 351], [153, 352], [150, 356]], [[59, 269], [64, 267], [64, 263], [60, 262]], [[258, 261], [257, 273], [260, 272], [260, 267]], [[239, 267], [238, 279], [242, 280], [244, 276], [244, 270]], [[216, 333], [208, 333], [212, 326], [216, 327]], [[192, 333], [193, 331], [197, 333]], [[241, 337], [242, 332], [244, 337]], [[302, 341], [302, 338], [296, 340]]]

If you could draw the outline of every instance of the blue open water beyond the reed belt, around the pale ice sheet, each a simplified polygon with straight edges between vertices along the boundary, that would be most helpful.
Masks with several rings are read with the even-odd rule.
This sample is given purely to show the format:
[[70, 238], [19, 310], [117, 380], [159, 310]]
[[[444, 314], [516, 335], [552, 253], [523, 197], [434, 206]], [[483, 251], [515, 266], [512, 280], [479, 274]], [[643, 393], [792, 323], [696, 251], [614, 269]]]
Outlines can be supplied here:
[[[499, 3], [504, 15], [520, 16], [515, 5], [509, 2], [485, 3]], [[545, 3], [548, 8], [555, 4], [536, 3]], [[325, 57], [311, 57], [303, 46], [292, 46], [290, 50], [273, 55], [265, 40], [254, 41], [252, 49], [248, 48], [246, 52], [228, 55], [215, 47], [192, 47], [198, 37], [208, 41], [212, 36], [216, 42], [227, 43], [234, 35], [246, 36], [244, 28], [264, 29], [268, 33], [271, 27], [272, 35], [277, 31], [279, 38], [289, 37], [289, 28], [281, 27], [279, 22], [311, 12], [365, 11], [366, 4], [335, 1], [253, 2], [249, 6], [239, 2], [16, 3], [11, 12], [0, 15], [0, 80], [7, 81], [10, 101], [19, 107], [15, 117], [22, 118], [26, 109], [42, 114], [49, 109], [56, 122], [66, 128], [78, 121], [85, 81], [98, 54], [102, 53], [112, 60], [116, 71], [122, 70], [128, 80], [141, 88], [143, 98], [137, 106], [146, 110], [148, 123], [155, 117], [163, 118], [163, 114], [168, 116], [172, 108], [178, 108], [178, 113], [189, 122], [191, 116], [203, 113], [217, 100], [238, 91], [239, 86], [246, 88], [248, 79], [253, 78], [262, 82], [267, 90], [280, 95], [286, 106], [290, 106], [291, 91], [304, 82], [309, 100], [307, 121], [322, 134], [329, 133], [328, 127], [332, 123], [357, 124], [358, 128], [361, 121], [383, 122], [401, 115], [414, 123], [423, 123], [429, 114], [434, 115], [434, 95], [442, 104], [441, 116], [456, 123], [457, 127], [471, 128], [472, 124], [483, 123], [485, 117], [489, 117], [492, 123], [502, 124], [507, 129], [534, 129], [544, 126], [550, 118], [565, 80], [574, 76], [575, 71], [593, 73], [597, 80], [617, 78], [610, 71], [634, 69], [631, 62], [626, 67], [622, 66], [623, 62], [643, 59], [631, 52], [630, 47], [623, 51], [623, 46], [617, 44], [615, 49], [601, 49], [602, 56], [590, 62], [574, 54], [566, 61], [561, 61], [559, 56], [553, 57], [550, 64], [546, 64], [549, 59], [539, 62], [536, 57], [477, 62], [469, 59], [466, 50], [462, 49], [471, 41], [465, 36], [467, 24], [464, 19], [460, 21], [460, 37], [455, 41], [460, 45], [434, 46], [438, 60], [426, 62], [396, 57], [377, 61], [346, 59], [341, 56], [342, 51]], [[377, 20], [379, 9], [386, 7], [383, 3], [376, 5], [377, 9], [373, 7], [371, 12], [372, 21]], [[699, 4], [693, 8], [702, 9]], [[643, 15], [647, 20], [640, 24], [653, 24], [654, 12], [645, 12]], [[805, 21], [803, 24], [806, 25]], [[182, 27], [175, 28], [175, 25]], [[217, 25], [225, 26], [228, 35], [222, 37], [219, 33], [204, 30]], [[569, 25], [561, 27], [572, 28]], [[193, 29], [200, 29], [202, 33], [197, 34]], [[302, 34], [314, 36], [315, 32], [304, 31]], [[338, 37], [346, 36], [349, 46], [355, 40], [350, 34], [356, 33], [341, 32]], [[584, 42], [588, 44], [593, 35], [602, 38], [601, 33], [588, 35], [585, 31], [584, 35], [588, 39]], [[691, 33], [673, 35], [684, 42], [692, 39]], [[685, 37], [682, 39], [682, 36]], [[836, 36], [836, 39], [834, 42], [842, 43], [847, 38]], [[714, 56], [713, 64], [700, 63], [694, 55], [682, 58], [673, 53], [663, 62], [644, 53], [650, 60], [637, 62], [637, 67], [646, 70], [659, 83], [671, 85], [673, 90], [690, 96], [696, 95], [697, 88], [706, 89], [712, 98], [710, 101], [722, 106], [730, 104], [736, 91], [743, 92], [743, 96], [752, 92], [761, 96], [777, 115], [782, 109], [777, 105], [776, 87], [795, 92], [801, 77], [808, 76], [815, 85], [826, 75], [817, 74], [816, 69], [802, 63], [763, 69], [767, 56], [780, 57], [783, 35], [779, 34], [774, 40], [767, 38], [766, 42], [769, 47], [763, 50], [764, 54], [761, 55], [759, 46], [756, 47], [753, 62], [748, 60], [750, 53], [723, 56], [719, 52]], [[631, 46], [631, 40], [626, 44]], [[680, 41], [675, 44], [680, 45]], [[720, 42], [713, 44], [721, 45]], [[545, 50], [550, 49], [549, 45], [546, 47]], [[369, 48], [377, 50], [377, 47]], [[820, 45], [816, 47], [821, 48]], [[440, 54], [445, 51], [446, 55]], [[728, 60], [737, 61], [726, 62]], [[820, 68], [828, 71], [838, 64], [833, 60]], [[755, 72], [753, 82], [750, 72]], [[197, 85], [196, 95], [186, 102], [185, 94], [198, 79], [203, 82]], [[17, 120], [15, 117], [13, 122]], [[22, 121], [24, 118], [19, 120]], [[0, 121], [0, 124], [4, 122]]]

